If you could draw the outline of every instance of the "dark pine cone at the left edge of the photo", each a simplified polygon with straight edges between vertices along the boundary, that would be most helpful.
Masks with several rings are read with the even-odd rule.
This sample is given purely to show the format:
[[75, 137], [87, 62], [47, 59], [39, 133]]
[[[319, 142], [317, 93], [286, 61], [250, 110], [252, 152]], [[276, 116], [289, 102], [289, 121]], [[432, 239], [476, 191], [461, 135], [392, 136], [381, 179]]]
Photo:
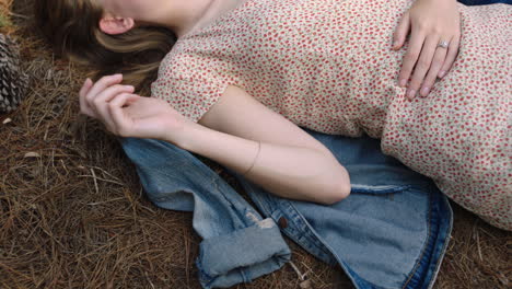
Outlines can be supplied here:
[[20, 105], [27, 84], [14, 42], [0, 34], [0, 113], [10, 113]]

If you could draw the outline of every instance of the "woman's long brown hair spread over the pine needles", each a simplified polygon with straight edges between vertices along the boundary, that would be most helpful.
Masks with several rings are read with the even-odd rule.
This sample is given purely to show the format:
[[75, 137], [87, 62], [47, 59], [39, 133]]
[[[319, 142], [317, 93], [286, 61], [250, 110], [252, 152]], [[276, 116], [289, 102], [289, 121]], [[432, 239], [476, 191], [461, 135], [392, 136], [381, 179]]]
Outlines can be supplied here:
[[35, 22], [58, 56], [92, 68], [94, 78], [123, 73], [124, 83], [148, 93], [175, 35], [140, 26], [119, 35], [100, 30], [103, 9], [96, 0], [35, 0]]

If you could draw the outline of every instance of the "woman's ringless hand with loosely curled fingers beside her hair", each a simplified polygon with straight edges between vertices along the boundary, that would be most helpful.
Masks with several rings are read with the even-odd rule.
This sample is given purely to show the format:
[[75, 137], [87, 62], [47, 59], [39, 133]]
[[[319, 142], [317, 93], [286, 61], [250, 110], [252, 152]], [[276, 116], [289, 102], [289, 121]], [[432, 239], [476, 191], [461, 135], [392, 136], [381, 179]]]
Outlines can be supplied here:
[[121, 137], [153, 138], [178, 144], [193, 123], [165, 101], [133, 94], [133, 86], [119, 84], [121, 74], [85, 80], [80, 90], [80, 109]]

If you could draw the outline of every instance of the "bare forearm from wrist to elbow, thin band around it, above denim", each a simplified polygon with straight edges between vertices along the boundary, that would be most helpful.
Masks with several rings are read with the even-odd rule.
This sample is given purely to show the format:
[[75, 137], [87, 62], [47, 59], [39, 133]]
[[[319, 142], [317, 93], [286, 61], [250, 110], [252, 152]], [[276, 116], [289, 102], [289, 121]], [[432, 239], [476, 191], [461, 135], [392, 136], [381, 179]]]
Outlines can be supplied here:
[[328, 152], [258, 143], [201, 125], [191, 126], [186, 135], [186, 140], [176, 144], [246, 173], [248, 180], [281, 197], [333, 204], [350, 193], [347, 171]]

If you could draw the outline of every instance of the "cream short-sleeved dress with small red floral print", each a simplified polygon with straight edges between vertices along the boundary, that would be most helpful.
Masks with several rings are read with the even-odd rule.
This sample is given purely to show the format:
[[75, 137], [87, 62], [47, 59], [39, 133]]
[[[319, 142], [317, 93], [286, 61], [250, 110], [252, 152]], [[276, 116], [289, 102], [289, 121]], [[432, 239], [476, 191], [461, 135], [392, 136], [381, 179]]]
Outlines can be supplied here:
[[459, 5], [461, 49], [427, 99], [409, 102], [391, 50], [410, 0], [246, 0], [182, 37], [152, 95], [197, 122], [230, 84], [299, 126], [382, 139], [453, 200], [512, 230], [512, 13]]

